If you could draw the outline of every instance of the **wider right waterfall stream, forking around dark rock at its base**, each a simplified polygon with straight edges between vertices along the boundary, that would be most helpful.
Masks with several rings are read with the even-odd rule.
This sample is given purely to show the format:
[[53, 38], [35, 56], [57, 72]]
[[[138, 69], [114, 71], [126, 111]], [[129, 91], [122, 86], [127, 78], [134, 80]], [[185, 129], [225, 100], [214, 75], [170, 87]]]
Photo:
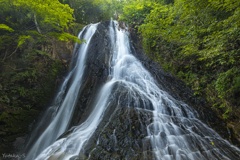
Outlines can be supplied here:
[[[153, 113], [152, 122], [147, 126], [148, 136], [143, 139], [143, 143], [150, 140], [151, 146], [143, 146], [154, 153], [155, 159], [238, 159], [239, 149], [198, 120], [194, 109], [160, 89], [151, 74], [132, 55], [128, 33], [117, 29], [117, 25], [116, 21], [111, 22], [109, 29], [113, 49], [109, 62], [111, 78], [98, 93], [95, 108], [85, 122], [46, 148], [37, 160], [78, 157], [101, 122], [113, 92], [120, 93], [115, 97], [119, 104], [125, 99], [127, 107]], [[114, 88], [116, 84], [118, 88]], [[125, 88], [124, 93], [121, 93], [121, 87]], [[149, 159], [147, 154], [144, 156]]]

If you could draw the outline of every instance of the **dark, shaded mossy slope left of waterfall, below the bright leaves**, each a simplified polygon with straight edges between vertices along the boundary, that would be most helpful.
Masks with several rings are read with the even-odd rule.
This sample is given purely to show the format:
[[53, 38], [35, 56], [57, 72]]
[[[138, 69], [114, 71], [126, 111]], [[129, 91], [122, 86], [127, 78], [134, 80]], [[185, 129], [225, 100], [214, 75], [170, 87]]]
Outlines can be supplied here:
[[[29, 131], [29, 124], [53, 96], [62, 64], [47, 54], [25, 50], [0, 65], [0, 132], [5, 141], [0, 151], [13, 151], [13, 142]], [[8, 148], [9, 150], [6, 150]]]

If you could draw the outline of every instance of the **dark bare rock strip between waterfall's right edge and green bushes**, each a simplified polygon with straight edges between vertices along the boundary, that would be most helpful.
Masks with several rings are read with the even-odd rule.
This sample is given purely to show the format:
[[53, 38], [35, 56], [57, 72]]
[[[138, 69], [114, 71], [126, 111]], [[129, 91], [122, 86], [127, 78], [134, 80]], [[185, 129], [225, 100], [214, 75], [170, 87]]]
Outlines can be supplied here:
[[[237, 132], [231, 130], [233, 127], [217, 116], [207, 101], [199, 96], [194, 95], [194, 91], [190, 86], [187, 86], [183, 81], [170, 73], [165, 73], [161, 66], [147, 57], [144, 53], [138, 35], [131, 34], [133, 54], [142, 62], [149, 72], [155, 77], [155, 80], [160, 84], [160, 88], [168, 92], [177, 100], [183, 101], [189, 106], [193, 107], [199, 113], [199, 119], [208, 124], [211, 128], [217, 131], [224, 139], [227, 139], [232, 144], [240, 147]], [[235, 127], [236, 128], [236, 127]]]

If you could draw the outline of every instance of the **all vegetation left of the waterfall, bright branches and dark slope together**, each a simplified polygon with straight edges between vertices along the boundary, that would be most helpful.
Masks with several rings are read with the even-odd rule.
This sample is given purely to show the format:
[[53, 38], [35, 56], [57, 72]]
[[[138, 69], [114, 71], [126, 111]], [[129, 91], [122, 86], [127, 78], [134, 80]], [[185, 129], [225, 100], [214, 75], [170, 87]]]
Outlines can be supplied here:
[[120, 6], [116, 2], [0, 0], [0, 136], [28, 130], [69, 62], [56, 46], [69, 49], [73, 42], [81, 43], [76, 35], [83, 26], [110, 20]]

